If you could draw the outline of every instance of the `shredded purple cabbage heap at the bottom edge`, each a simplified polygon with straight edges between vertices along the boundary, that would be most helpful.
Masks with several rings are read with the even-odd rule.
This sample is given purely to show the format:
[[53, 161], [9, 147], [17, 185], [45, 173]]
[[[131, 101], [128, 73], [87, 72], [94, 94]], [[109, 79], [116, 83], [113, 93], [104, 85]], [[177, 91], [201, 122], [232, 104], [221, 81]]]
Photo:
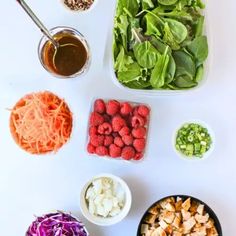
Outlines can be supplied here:
[[83, 223], [63, 212], [37, 217], [26, 236], [88, 236]]

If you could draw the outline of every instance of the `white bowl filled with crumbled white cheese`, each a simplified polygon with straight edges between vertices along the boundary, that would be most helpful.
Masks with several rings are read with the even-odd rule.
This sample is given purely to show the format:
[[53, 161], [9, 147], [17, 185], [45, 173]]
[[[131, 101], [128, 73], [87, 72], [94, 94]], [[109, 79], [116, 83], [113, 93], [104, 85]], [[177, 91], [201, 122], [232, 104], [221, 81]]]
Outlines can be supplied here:
[[80, 208], [90, 222], [109, 226], [128, 215], [131, 201], [130, 189], [124, 180], [111, 174], [100, 174], [83, 187]]

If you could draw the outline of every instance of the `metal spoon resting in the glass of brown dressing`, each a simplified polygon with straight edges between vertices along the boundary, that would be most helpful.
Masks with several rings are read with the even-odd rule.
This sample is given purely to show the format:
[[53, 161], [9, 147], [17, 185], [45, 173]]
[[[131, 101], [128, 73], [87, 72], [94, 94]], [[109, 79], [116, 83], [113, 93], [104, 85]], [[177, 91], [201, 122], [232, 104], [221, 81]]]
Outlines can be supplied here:
[[53, 38], [53, 35], [49, 32], [49, 30], [43, 25], [43, 23], [39, 20], [39, 18], [34, 14], [34, 12], [31, 10], [31, 8], [27, 5], [27, 3], [24, 0], [16, 0], [20, 6], [25, 10], [25, 12], [30, 16], [30, 18], [33, 20], [33, 22], [38, 26], [40, 31], [49, 39], [49, 41], [53, 44], [55, 51], [53, 55], [53, 63], [55, 65], [55, 59], [57, 56], [57, 53], [61, 51], [60, 49], [63, 47], [76, 47], [76, 45], [72, 43], [65, 43], [60, 44], [58, 41], [56, 41]]

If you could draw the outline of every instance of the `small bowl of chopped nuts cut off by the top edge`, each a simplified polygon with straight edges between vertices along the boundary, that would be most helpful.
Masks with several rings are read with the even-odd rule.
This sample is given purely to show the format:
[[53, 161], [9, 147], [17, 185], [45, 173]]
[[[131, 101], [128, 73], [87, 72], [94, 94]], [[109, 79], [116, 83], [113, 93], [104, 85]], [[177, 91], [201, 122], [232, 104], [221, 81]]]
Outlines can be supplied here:
[[64, 7], [71, 12], [88, 12], [91, 11], [98, 0], [61, 0]]

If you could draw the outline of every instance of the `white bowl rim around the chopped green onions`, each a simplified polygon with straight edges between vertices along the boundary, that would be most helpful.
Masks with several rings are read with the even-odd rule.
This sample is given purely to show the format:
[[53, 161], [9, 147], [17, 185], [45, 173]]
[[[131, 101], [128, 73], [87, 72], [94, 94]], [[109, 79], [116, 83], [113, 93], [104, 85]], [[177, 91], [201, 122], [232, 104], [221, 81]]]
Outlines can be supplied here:
[[[176, 144], [176, 137], [177, 137], [177, 134], [178, 134], [178, 131], [186, 124], [190, 124], [190, 123], [194, 123], [194, 124], [198, 124], [198, 125], [201, 125], [202, 127], [206, 128], [210, 137], [211, 137], [211, 140], [212, 140], [212, 143], [211, 143], [211, 146], [209, 148], [209, 150], [207, 152], [205, 152], [202, 157], [197, 157], [197, 156], [192, 156], [192, 157], [188, 157], [186, 155], [184, 155], [181, 151], [178, 151], [175, 147], [175, 144]], [[197, 160], [204, 160], [206, 159], [207, 157], [209, 157], [211, 155], [211, 153], [213, 152], [214, 150], [214, 147], [215, 147], [215, 134], [213, 132], [213, 130], [211, 129], [211, 127], [206, 124], [205, 122], [201, 121], [201, 120], [197, 120], [197, 119], [194, 119], [194, 120], [188, 120], [184, 123], [182, 123], [181, 125], [178, 126], [177, 129], [175, 129], [174, 131], [174, 134], [173, 134], [173, 137], [172, 137], [172, 145], [173, 145], [173, 148], [175, 150], [175, 153], [181, 157], [181, 159], [184, 159], [184, 160], [187, 160], [187, 161], [197, 161]]]

